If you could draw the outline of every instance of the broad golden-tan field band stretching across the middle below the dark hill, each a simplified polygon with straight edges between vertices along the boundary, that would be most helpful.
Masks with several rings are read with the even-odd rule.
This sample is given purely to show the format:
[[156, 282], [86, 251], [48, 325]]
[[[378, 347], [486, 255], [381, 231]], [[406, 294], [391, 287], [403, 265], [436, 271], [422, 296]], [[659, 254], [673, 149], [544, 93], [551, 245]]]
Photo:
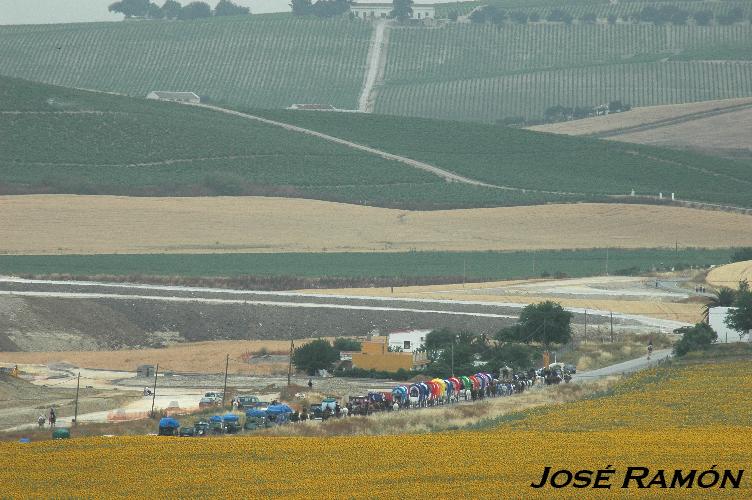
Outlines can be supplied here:
[[0, 197], [0, 212], [6, 254], [752, 245], [752, 232], [738, 230], [750, 216], [651, 205], [410, 212], [289, 198], [33, 195]]

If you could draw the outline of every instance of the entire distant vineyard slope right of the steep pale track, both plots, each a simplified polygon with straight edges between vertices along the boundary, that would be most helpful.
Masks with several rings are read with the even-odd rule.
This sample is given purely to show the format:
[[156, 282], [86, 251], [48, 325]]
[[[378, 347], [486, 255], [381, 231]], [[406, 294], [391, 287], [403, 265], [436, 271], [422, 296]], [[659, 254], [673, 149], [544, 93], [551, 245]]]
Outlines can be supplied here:
[[555, 105], [750, 96], [751, 36], [748, 23], [394, 29], [376, 112], [494, 122]]

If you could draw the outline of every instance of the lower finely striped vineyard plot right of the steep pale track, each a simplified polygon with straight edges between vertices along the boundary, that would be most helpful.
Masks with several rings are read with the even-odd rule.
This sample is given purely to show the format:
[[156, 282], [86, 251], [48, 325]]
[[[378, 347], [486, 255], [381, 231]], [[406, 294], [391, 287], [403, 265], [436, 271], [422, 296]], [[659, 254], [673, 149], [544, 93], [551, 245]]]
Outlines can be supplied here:
[[493, 123], [537, 118], [552, 106], [633, 106], [752, 96], [752, 62], [612, 64], [552, 71], [387, 85], [376, 112]]

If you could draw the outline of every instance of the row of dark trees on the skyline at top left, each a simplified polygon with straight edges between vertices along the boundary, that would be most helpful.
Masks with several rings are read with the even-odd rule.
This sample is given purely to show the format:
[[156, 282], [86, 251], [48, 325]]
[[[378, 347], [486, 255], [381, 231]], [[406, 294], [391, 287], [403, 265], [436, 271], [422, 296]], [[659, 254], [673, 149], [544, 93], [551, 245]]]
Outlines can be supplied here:
[[199, 19], [214, 16], [240, 16], [250, 14], [248, 7], [241, 7], [230, 0], [220, 0], [212, 10], [206, 2], [191, 2], [183, 6], [176, 0], [167, 0], [160, 7], [149, 0], [121, 0], [109, 6], [110, 12], [123, 14], [126, 18], [142, 19]]

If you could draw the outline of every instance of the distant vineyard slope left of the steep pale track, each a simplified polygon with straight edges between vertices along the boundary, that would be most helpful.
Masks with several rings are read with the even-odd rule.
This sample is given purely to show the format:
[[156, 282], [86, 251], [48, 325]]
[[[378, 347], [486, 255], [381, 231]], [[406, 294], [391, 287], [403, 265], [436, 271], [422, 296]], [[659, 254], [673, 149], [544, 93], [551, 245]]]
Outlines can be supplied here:
[[356, 107], [371, 26], [244, 16], [0, 27], [0, 73], [145, 96], [186, 90], [249, 106]]

